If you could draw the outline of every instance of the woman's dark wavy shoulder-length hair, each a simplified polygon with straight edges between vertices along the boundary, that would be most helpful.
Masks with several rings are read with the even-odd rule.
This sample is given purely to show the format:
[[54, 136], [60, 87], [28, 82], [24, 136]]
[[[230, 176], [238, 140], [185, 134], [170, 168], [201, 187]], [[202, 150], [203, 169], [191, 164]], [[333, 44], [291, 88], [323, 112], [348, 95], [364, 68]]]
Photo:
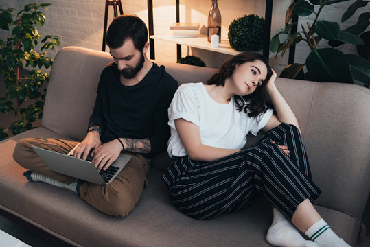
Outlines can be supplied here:
[[[225, 62], [217, 73], [207, 81], [207, 84], [215, 84], [216, 86], [224, 86], [225, 80], [230, 78], [233, 74], [235, 67], [246, 62], [253, 62], [259, 60], [264, 62], [267, 67], [267, 76], [261, 86], [257, 87], [253, 93], [245, 96], [235, 95], [235, 105], [237, 110], [247, 113], [249, 117], [258, 117], [261, 113], [266, 112], [268, 108], [273, 108], [273, 104], [270, 102], [270, 98], [266, 92], [266, 82], [273, 75], [270, 65], [266, 58], [255, 51], [245, 51], [241, 54], [233, 56], [230, 60]], [[250, 101], [248, 104], [246, 102]]]

